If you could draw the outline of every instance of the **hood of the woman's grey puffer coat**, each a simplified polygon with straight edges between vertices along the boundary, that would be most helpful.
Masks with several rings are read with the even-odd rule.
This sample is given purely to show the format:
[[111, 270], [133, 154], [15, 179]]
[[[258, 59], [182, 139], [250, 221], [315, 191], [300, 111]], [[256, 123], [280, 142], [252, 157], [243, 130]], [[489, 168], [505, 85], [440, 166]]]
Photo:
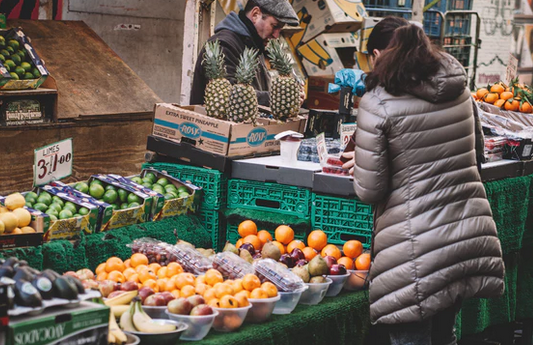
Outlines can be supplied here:
[[444, 103], [463, 94], [466, 82], [467, 75], [463, 66], [453, 56], [443, 53], [437, 74], [408, 93], [431, 103]]

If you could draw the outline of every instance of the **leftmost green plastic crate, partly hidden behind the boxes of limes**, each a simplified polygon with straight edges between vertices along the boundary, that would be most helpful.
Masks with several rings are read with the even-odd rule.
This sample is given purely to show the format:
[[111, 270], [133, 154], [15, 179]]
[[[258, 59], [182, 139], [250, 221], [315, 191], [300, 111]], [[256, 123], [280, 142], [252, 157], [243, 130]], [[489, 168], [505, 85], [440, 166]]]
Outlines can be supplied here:
[[220, 210], [226, 201], [228, 178], [218, 170], [198, 168], [174, 163], [145, 163], [143, 169], [152, 167], [166, 171], [180, 180], [190, 181], [203, 189], [202, 208]]

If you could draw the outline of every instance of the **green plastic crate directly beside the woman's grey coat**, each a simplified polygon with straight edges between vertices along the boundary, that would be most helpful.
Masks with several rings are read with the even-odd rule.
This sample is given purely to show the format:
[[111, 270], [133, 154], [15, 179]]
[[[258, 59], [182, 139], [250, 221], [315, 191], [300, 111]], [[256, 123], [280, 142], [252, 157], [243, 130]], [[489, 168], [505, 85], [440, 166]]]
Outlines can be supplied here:
[[328, 235], [328, 243], [359, 240], [370, 248], [374, 226], [372, 207], [356, 198], [344, 199], [313, 193], [311, 225]]

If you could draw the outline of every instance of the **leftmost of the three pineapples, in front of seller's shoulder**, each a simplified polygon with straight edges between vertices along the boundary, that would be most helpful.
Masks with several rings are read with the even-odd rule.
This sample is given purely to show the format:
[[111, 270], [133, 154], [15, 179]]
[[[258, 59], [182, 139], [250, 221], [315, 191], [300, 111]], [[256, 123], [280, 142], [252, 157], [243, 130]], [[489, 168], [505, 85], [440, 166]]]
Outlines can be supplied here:
[[205, 44], [205, 54], [202, 64], [209, 83], [205, 88], [205, 111], [208, 116], [225, 120], [231, 83], [225, 79], [226, 66], [224, 65], [224, 53], [218, 40]]

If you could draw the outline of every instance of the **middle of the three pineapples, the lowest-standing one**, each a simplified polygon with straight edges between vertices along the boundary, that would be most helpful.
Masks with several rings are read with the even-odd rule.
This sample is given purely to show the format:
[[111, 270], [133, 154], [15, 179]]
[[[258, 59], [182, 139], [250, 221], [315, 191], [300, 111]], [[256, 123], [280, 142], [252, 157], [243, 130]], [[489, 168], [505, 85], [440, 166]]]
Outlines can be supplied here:
[[229, 97], [228, 120], [255, 123], [257, 117], [257, 95], [252, 87], [255, 71], [259, 64], [257, 49], [246, 48], [239, 60], [235, 73], [237, 83]]

